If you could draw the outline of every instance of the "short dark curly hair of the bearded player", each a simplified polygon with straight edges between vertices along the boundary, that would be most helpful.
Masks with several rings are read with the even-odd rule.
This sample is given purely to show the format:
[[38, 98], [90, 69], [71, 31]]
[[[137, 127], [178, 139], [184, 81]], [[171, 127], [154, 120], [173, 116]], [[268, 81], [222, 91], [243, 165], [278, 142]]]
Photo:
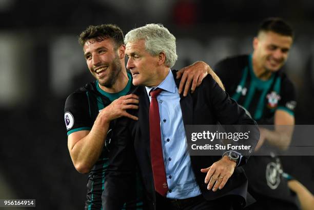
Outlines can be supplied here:
[[97, 26], [88, 26], [78, 37], [78, 42], [84, 46], [85, 42], [94, 39], [97, 42], [102, 42], [106, 39], [111, 38], [116, 47], [124, 44], [123, 31], [119, 26], [112, 24], [103, 24]]

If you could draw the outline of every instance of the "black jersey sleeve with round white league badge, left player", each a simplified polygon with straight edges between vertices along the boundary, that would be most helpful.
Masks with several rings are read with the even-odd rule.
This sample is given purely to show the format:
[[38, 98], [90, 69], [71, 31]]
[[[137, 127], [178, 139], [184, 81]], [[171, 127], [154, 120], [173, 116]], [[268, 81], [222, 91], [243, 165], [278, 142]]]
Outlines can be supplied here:
[[64, 107], [67, 135], [80, 130], [91, 130], [91, 112], [88, 92], [72, 93]]

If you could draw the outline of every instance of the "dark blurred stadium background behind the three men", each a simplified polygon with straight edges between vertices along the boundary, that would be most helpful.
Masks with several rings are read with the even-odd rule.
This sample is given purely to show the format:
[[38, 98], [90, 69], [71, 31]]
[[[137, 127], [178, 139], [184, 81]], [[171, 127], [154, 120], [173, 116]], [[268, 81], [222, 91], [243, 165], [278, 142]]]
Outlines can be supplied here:
[[[1, 0], [0, 199], [83, 209], [86, 175], [71, 163], [63, 108], [68, 94], [92, 80], [77, 43], [88, 25], [113, 23], [127, 32], [162, 23], [177, 37], [179, 69], [251, 52], [258, 23], [268, 16], [296, 30], [286, 65], [298, 92], [296, 123], [313, 124], [314, 1]], [[284, 165], [314, 193], [313, 157], [286, 158]]]

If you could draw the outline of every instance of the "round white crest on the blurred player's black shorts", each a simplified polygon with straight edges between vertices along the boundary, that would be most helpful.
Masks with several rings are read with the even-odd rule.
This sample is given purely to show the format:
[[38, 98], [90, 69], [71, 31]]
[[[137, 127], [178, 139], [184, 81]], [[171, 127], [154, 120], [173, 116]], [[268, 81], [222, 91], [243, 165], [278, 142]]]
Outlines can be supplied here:
[[266, 166], [266, 181], [271, 189], [276, 189], [280, 184], [282, 174], [281, 164], [270, 162]]

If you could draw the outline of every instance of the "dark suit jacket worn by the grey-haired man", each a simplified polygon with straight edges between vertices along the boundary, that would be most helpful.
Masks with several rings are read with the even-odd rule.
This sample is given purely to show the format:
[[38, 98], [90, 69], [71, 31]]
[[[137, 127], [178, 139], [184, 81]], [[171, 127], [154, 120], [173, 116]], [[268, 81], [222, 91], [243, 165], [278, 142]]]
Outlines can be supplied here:
[[[172, 71], [175, 78], [175, 71]], [[179, 87], [179, 80], [175, 80]], [[139, 121], [120, 119], [117, 126], [122, 126], [122, 133], [119, 133], [120, 141], [133, 141], [136, 158], [141, 171], [144, 188], [150, 209], [155, 208], [155, 189], [152, 175], [150, 159], [150, 139], [149, 139], [149, 98], [145, 87], [137, 87], [134, 90], [140, 98], [139, 109], [131, 110], [130, 113], [138, 116]], [[219, 85], [208, 75], [202, 84], [193, 94], [188, 93], [187, 97], [180, 96], [180, 105], [184, 125], [256, 125], [244, 109], [228, 97]], [[259, 139], [259, 130], [256, 130], [256, 141]], [[252, 132], [252, 131], [251, 131]], [[125, 139], [125, 140], [123, 140]], [[252, 143], [254, 145], [256, 142]], [[207, 200], [213, 200], [226, 195], [238, 197], [239, 203], [245, 205], [247, 193], [247, 178], [242, 167], [237, 167], [233, 175], [229, 178], [224, 188], [217, 192], [207, 189], [204, 183], [206, 173], [201, 173], [201, 168], [207, 168], [218, 161], [221, 156], [191, 156], [191, 165], [196, 181], [201, 189], [202, 195]], [[242, 163], [247, 161], [248, 157], [243, 157]]]

